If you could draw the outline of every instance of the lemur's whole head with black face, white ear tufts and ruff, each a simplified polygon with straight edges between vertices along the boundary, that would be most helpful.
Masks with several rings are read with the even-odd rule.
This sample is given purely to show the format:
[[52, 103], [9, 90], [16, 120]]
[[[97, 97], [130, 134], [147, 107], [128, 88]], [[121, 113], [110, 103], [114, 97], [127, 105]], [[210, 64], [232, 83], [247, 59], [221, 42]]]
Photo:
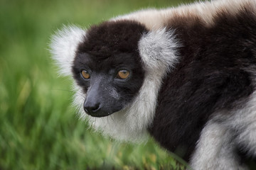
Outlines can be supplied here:
[[75, 26], [53, 36], [60, 74], [75, 79], [81, 118], [120, 140], [141, 140], [154, 119], [161, 80], [176, 64], [174, 31], [149, 30], [136, 21]]

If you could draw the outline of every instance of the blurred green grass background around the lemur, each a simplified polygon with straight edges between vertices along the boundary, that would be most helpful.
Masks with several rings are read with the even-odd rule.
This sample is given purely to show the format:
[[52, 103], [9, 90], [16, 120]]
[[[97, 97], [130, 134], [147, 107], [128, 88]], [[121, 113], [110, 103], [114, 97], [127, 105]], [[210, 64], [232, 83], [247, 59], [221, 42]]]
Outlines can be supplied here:
[[132, 145], [88, 130], [70, 106], [70, 79], [50, 60], [50, 35], [178, 0], [0, 0], [0, 170], [184, 169], [150, 140]]

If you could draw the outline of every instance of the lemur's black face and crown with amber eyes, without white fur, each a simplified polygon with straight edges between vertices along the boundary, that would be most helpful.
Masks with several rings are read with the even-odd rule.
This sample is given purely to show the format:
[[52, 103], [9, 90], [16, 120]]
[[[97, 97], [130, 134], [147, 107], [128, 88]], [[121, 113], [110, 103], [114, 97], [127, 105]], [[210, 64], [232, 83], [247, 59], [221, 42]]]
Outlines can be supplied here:
[[85, 93], [83, 108], [104, 117], [130, 103], [144, 81], [138, 42], [146, 28], [128, 21], [102, 23], [87, 31], [73, 61], [73, 77]]

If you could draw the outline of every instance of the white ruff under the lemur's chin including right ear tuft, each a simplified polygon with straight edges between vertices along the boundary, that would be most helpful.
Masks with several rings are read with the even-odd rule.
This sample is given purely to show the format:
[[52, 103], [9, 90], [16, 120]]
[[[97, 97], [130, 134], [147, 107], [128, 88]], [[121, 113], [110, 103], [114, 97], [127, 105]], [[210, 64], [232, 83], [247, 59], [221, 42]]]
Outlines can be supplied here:
[[[153, 31], [142, 36], [139, 41], [139, 52], [144, 62], [146, 75], [144, 84], [138, 96], [122, 111], [113, 113], [104, 118], [93, 118], [82, 110], [85, 95], [77, 86], [78, 94], [75, 95], [75, 104], [80, 108], [80, 117], [89, 120], [95, 130], [105, 135], [133, 142], [142, 142], [147, 137], [146, 128], [154, 119], [156, 99], [161, 86], [161, 80], [178, 61], [173, 31], [165, 29]], [[113, 94], [116, 95], [116, 94]]]

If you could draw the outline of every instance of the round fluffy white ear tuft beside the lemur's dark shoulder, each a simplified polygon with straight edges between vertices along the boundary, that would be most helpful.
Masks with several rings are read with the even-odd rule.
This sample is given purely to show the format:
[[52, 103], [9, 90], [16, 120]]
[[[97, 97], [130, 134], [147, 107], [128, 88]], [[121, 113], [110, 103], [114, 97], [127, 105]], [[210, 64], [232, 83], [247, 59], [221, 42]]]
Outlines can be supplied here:
[[146, 69], [172, 69], [178, 62], [179, 46], [174, 30], [151, 30], [139, 40], [139, 54]]

